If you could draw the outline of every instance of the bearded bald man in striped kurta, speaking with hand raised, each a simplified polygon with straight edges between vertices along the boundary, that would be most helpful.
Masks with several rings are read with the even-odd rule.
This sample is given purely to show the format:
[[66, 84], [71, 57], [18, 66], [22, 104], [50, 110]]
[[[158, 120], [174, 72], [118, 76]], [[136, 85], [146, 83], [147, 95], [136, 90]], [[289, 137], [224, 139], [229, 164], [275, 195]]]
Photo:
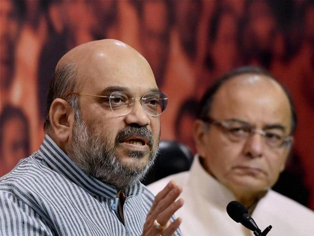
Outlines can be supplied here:
[[139, 182], [156, 157], [167, 97], [146, 59], [112, 39], [63, 56], [39, 150], [0, 178], [0, 235], [181, 235], [182, 189]]

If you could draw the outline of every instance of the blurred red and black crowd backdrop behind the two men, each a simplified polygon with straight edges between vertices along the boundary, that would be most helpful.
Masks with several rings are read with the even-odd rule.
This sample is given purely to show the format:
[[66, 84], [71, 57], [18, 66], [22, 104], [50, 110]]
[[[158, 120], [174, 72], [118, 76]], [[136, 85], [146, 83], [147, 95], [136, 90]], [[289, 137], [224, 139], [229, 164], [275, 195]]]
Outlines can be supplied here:
[[[196, 104], [221, 75], [242, 65], [268, 69], [291, 92], [294, 144], [279, 179], [314, 209], [314, 2], [312, 0], [1, 0], [0, 176], [38, 150], [58, 59], [92, 40], [126, 42], [150, 63], [168, 95], [161, 139], [196, 152]], [[283, 185], [281, 185], [283, 186]], [[276, 188], [276, 186], [275, 186]], [[291, 195], [292, 194], [292, 195]]]

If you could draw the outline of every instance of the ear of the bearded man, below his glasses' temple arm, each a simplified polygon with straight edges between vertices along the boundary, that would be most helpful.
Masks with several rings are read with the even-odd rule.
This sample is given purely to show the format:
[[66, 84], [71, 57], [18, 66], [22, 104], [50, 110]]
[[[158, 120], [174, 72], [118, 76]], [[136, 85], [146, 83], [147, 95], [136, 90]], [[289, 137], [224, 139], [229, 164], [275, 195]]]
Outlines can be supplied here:
[[74, 123], [72, 106], [61, 98], [54, 99], [49, 110], [49, 119], [55, 137], [60, 142], [67, 142]]

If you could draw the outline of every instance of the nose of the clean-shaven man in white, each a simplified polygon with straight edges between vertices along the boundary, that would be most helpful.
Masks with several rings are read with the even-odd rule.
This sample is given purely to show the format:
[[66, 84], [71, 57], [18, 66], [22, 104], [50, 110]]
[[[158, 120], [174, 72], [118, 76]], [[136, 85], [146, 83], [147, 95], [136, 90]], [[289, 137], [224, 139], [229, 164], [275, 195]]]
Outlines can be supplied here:
[[260, 133], [250, 135], [243, 147], [244, 155], [249, 158], [262, 157], [263, 155], [263, 137]]

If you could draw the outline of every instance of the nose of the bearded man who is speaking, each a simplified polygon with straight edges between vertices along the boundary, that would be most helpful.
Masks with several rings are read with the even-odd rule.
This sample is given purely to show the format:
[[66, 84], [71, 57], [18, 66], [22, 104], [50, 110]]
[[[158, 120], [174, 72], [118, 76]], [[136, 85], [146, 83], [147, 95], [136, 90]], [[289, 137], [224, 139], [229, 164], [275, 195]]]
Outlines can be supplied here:
[[150, 119], [148, 114], [145, 112], [141, 101], [134, 100], [131, 107], [131, 112], [125, 118], [126, 123], [128, 124], [138, 124], [140, 126], [147, 126], [150, 124]]

